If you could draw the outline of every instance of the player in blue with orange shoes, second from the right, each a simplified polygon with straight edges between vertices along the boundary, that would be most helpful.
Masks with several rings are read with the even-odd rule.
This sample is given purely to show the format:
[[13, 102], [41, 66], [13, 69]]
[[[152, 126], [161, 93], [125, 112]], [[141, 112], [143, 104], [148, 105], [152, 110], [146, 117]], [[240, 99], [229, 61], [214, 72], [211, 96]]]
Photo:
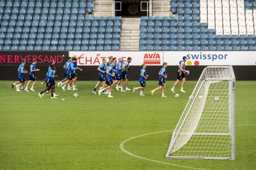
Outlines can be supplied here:
[[159, 74], [159, 83], [158, 83], [159, 87], [155, 88], [154, 90], [151, 91], [152, 96], [154, 96], [155, 91], [162, 89], [162, 97], [166, 97], [165, 96], [165, 78], [167, 78], [166, 67], [167, 67], [167, 63], [164, 62], [163, 67], [161, 68], [161, 70], [158, 73]]

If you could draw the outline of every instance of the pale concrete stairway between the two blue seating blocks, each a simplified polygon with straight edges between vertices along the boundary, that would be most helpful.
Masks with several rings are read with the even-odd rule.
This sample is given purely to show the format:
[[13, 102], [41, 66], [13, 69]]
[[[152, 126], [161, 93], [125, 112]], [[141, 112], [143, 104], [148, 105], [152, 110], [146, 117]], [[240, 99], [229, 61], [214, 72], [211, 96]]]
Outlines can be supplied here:
[[140, 18], [122, 18], [119, 50], [138, 50]]

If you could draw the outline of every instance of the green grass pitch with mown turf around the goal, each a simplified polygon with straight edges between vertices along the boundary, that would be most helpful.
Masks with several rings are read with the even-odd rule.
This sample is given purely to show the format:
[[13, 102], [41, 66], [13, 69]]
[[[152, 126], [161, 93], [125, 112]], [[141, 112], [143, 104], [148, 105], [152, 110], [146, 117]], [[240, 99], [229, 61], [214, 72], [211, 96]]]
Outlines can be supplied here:
[[58, 99], [40, 99], [40, 82], [27, 93], [0, 81], [0, 169], [256, 169], [256, 81], [236, 84], [234, 161], [165, 158], [195, 81], [179, 99], [170, 92], [174, 81], [166, 81], [168, 98], [151, 96], [158, 82], [147, 81], [145, 96], [115, 90], [113, 99], [91, 92], [96, 81], [78, 81], [77, 98], [56, 87]]

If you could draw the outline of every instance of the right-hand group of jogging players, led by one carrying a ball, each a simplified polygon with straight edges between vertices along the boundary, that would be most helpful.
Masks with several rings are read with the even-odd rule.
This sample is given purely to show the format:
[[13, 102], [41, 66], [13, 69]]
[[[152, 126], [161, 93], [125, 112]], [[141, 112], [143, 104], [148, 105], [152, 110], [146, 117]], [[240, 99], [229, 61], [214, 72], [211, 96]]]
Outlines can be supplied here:
[[[180, 61], [179, 63], [179, 70], [177, 71], [177, 80], [175, 84], [173, 85], [172, 89], [170, 89], [173, 93], [175, 93], [175, 87], [177, 84], [179, 84], [180, 80], [182, 80], [182, 88], [180, 89], [180, 92], [186, 93], [183, 89], [184, 84], [186, 82], [185, 74], [188, 74], [188, 72], [185, 70], [186, 67], [186, 61], [187, 57], [184, 56], [183, 60]], [[129, 63], [131, 62], [131, 58], [128, 57], [126, 62], [123, 62], [123, 58], [120, 57], [118, 59], [118, 63], [116, 63], [116, 58], [113, 58], [112, 56], [109, 57], [108, 63], [106, 63], [106, 59], [102, 60], [102, 64], [99, 65], [98, 67], [98, 82], [95, 85], [95, 88], [93, 90], [93, 93], [96, 95], [96, 89], [98, 86], [103, 82], [103, 85], [101, 88], [99, 88], [98, 94], [101, 95], [101, 93], [108, 94], [108, 97], [113, 97], [111, 96], [111, 92], [113, 90], [113, 86], [116, 85], [116, 89], [119, 91], [119, 87], [121, 88], [121, 92], [126, 92], [130, 91], [130, 89], [127, 87], [127, 81], [128, 76], [127, 76], [127, 71], [129, 70]], [[147, 71], [145, 68], [147, 68], [147, 65], [145, 63], [141, 64], [143, 68], [140, 70], [140, 86], [139, 87], [134, 87], [133, 88], [133, 93], [140, 89], [140, 96], [145, 96], [143, 94], [143, 91], [145, 89], [146, 85], [146, 79], [148, 78]], [[159, 71], [159, 83], [158, 87], [153, 89], [151, 91], [151, 95], [154, 96], [154, 92], [162, 89], [162, 96], [166, 98], [165, 96], [165, 78], [167, 78], [166, 74], [166, 67], [168, 66], [168, 63], [163, 63], [163, 67]], [[126, 91], [123, 90], [123, 80], [126, 80]]]

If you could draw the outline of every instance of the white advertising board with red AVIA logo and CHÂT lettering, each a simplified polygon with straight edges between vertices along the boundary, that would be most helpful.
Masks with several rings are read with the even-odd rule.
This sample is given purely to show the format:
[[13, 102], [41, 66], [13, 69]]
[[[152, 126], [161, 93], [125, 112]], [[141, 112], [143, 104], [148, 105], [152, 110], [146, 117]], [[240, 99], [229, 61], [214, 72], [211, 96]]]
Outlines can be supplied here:
[[123, 57], [126, 60], [128, 57], [131, 57], [131, 66], [141, 66], [142, 63], [146, 63], [150, 66], [159, 66], [163, 62], [163, 52], [156, 51], [70, 51], [69, 56], [73, 55], [80, 56], [80, 59], [77, 62], [79, 66], [98, 66], [102, 63], [102, 59], [107, 59], [109, 56]]

